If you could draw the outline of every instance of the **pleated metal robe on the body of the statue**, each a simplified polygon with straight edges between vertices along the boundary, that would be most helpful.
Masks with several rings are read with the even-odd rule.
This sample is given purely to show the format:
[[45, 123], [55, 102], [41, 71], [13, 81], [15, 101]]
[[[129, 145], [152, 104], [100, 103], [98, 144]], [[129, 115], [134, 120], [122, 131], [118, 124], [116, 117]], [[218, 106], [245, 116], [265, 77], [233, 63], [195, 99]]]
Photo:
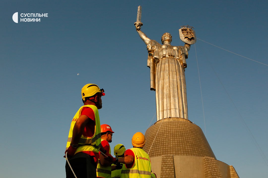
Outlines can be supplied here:
[[188, 51], [183, 46], [147, 45], [151, 90], [155, 91], [157, 121], [169, 117], [188, 119], [184, 71]]

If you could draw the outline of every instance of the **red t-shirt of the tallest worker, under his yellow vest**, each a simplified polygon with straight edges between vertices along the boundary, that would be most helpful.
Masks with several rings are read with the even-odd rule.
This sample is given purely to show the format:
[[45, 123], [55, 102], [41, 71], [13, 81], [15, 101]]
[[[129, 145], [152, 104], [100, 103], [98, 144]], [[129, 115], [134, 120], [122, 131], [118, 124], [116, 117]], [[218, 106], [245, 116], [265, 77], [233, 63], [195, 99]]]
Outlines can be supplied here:
[[[94, 111], [90, 107], [83, 107], [81, 111], [81, 115], [86, 115], [91, 119], [85, 126], [83, 131], [83, 135], [86, 137], [92, 137], [95, 133], [95, 114]], [[83, 153], [89, 154], [90, 156], [94, 156], [94, 161], [98, 162], [99, 154], [91, 151], [84, 151]]]

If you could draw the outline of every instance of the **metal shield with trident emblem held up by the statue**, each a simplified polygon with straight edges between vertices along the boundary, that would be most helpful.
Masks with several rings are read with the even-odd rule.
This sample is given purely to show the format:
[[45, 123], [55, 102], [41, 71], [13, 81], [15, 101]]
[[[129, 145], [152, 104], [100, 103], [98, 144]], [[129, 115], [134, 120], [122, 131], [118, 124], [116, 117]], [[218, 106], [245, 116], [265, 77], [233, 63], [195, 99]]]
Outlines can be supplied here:
[[188, 28], [188, 27], [183, 26], [181, 29], [179, 29], [181, 41], [183, 41], [189, 45], [195, 44], [195, 42], [196, 42], [195, 31], [192, 28]]

